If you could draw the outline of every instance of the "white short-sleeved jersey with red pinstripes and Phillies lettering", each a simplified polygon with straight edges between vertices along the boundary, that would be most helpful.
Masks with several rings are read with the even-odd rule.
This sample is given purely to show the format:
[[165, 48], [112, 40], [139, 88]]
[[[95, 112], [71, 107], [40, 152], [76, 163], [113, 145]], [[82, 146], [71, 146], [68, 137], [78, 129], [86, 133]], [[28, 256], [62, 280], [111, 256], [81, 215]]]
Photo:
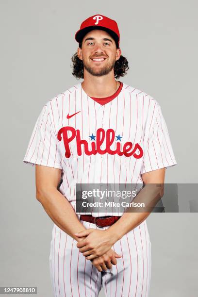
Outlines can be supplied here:
[[75, 211], [76, 183], [143, 184], [142, 173], [177, 164], [160, 104], [125, 83], [104, 105], [81, 83], [49, 100], [23, 162], [62, 169], [59, 191]]

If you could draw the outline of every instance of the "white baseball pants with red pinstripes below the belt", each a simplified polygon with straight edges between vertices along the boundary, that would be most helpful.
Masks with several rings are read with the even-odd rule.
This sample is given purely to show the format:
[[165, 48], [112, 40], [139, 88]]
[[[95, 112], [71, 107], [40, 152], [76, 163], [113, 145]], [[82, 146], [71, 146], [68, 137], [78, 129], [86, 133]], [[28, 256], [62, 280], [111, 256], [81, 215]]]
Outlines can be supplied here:
[[[81, 223], [86, 229], [98, 229], [95, 224]], [[112, 269], [99, 272], [76, 244], [76, 240], [54, 224], [49, 255], [54, 297], [98, 297], [101, 287], [107, 297], [148, 297], [151, 243], [146, 220], [112, 247], [122, 256], [116, 259]]]

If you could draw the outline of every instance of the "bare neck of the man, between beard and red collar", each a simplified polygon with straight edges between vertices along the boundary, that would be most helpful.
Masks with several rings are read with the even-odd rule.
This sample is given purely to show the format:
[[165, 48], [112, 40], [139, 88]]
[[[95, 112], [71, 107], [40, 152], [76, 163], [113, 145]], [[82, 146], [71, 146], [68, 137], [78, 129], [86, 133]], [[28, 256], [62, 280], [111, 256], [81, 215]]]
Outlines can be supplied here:
[[84, 81], [82, 88], [89, 97], [104, 98], [113, 95], [119, 87], [116, 82], [114, 72], [100, 77], [93, 76], [84, 72]]

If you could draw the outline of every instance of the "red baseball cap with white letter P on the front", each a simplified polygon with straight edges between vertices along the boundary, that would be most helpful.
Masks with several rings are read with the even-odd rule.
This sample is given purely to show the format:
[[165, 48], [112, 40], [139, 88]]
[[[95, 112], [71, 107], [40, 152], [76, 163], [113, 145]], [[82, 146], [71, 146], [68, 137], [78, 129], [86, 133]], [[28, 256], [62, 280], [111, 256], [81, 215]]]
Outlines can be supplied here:
[[86, 35], [86, 33], [94, 29], [104, 30], [109, 33], [114, 38], [116, 44], [119, 46], [120, 34], [116, 21], [102, 15], [94, 15], [86, 18], [82, 22], [80, 30], [78, 30], [75, 34], [76, 41], [82, 42], [82, 39]]

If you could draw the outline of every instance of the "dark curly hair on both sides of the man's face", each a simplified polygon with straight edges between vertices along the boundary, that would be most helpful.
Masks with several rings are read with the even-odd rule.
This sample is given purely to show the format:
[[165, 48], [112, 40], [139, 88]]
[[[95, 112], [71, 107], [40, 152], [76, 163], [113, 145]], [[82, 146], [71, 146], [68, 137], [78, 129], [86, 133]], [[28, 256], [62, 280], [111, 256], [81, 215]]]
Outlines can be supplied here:
[[[71, 57], [71, 61], [73, 65], [73, 76], [77, 79], [84, 78], [84, 66], [81, 59], [79, 59], [77, 52]], [[128, 61], [122, 55], [120, 56], [119, 60], [115, 61], [114, 65], [114, 75], [115, 79], [118, 79], [120, 76], [124, 76], [127, 74], [127, 70], [129, 69]]]

